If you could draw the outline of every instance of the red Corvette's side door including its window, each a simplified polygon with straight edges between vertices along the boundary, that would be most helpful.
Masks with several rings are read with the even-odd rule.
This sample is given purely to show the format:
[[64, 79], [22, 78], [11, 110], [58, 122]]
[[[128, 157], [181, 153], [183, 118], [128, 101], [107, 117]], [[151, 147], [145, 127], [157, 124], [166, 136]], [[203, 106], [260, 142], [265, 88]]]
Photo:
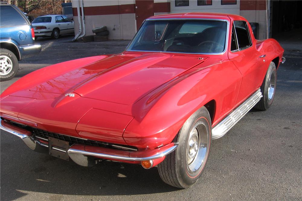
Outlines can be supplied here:
[[242, 82], [236, 103], [242, 102], [257, 90], [262, 82], [263, 59], [252, 43], [246, 21], [233, 21], [229, 59], [240, 73]]

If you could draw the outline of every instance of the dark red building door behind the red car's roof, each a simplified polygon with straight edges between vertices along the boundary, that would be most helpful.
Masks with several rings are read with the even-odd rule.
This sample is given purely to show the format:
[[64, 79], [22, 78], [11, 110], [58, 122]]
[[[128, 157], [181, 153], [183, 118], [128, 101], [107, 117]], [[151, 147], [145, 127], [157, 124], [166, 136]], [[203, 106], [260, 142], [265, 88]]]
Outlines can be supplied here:
[[140, 28], [143, 21], [154, 15], [154, 1], [135, 0], [136, 30]]

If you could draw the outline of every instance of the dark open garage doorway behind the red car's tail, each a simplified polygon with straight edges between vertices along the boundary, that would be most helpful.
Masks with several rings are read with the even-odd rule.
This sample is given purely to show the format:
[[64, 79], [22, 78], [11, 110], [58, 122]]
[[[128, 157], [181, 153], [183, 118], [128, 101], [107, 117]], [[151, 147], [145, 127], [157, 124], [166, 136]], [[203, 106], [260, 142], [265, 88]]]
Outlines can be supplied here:
[[302, 1], [270, 1], [271, 37], [302, 28]]

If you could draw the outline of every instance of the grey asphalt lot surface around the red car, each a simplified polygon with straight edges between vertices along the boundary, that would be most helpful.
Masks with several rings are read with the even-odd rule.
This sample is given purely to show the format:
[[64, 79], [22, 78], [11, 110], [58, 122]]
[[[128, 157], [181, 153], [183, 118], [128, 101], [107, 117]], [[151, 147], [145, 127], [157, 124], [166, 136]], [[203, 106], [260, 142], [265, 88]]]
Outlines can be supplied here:
[[[300, 34], [300, 35], [299, 35]], [[39, 38], [42, 52], [20, 62], [12, 80], [50, 64], [118, 53], [129, 41], [70, 42]], [[1, 200], [302, 200], [302, 31], [278, 41], [286, 62], [268, 111], [251, 110], [224, 137], [213, 140], [198, 182], [180, 190], [163, 183], [157, 168], [103, 162], [92, 168], [31, 151], [1, 131]]]

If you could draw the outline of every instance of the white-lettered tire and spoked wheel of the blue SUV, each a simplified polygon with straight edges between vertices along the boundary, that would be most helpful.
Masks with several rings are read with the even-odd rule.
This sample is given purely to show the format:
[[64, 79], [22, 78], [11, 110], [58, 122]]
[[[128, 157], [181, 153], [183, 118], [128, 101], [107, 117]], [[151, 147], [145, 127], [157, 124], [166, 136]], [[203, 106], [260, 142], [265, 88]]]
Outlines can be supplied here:
[[[4, 59], [7, 59], [5, 62]], [[7, 68], [7, 64], [12, 65], [12, 67], [10, 68], [11, 70], [8, 70]], [[18, 67], [19, 67], [19, 63], [18, 63], [18, 59], [16, 57], [16, 55], [14, 55], [13, 52], [11, 52], [8, 49], [3, 49], [1, 48], [0, 51], [0, 81], [7, 81], [12, 79], [13, 77], [15, 77], [15, 75], [18, 72]], [[3, 69], [4, 68], [4, 69]], [[7, 74], [5, 74], [7, 71]]]

